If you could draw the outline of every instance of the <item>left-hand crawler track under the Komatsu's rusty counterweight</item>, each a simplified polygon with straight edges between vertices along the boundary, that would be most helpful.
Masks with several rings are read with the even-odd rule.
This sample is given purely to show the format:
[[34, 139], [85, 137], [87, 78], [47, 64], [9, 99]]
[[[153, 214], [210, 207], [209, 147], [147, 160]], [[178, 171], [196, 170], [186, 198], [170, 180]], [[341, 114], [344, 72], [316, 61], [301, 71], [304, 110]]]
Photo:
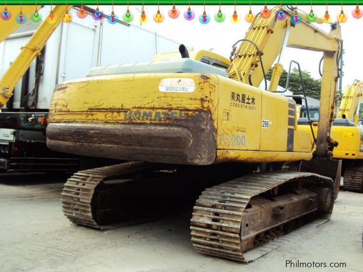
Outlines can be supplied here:
[[95, 229], [105, 229], [95, 220], [92, 197], [106, 178], [145, 170], [143, 162], [128, 162], [91, 170], [78, 171], [71, 176], [61, 193], [64, 215], [73, 223]]

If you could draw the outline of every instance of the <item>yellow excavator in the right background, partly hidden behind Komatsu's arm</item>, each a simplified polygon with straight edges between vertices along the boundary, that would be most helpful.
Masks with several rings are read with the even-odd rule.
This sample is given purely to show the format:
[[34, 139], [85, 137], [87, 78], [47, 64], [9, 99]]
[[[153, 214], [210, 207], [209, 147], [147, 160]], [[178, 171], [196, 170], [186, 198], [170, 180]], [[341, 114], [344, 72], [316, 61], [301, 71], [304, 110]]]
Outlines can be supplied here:
[[[332, 125], [332, 136], [339, 145], [334, 149], [333, 158], [342, 159], [343, 187], [345, 190], [363, 193], [363, 131], [358, 127], [359, 106], [363, 94], [363, 82], [349, 85], [342, 96], [337, 118]], [[309, 106], [313, 133], [316, 134], [319, 121], [319, 107]], [[298, 129], [311, 131], [306, 107], [302, 107], [298, 119]], [[311, 134], [312, 143], [314, 134]]]

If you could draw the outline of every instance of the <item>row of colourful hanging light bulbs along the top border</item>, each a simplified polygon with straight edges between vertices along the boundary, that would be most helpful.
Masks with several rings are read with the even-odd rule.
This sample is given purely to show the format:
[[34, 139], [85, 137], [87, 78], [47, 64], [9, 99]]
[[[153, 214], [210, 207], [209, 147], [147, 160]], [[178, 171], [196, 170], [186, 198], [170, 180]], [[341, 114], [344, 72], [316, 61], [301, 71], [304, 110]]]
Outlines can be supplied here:
[[[19, 0], [19, 3], [20, 3], [20, 12], [15, 17], [15, 20], [17, 21], [18, 24], [24, 24], [27, 21], [27, 17], [22, 12], [22, 0]], [[157, 3], [158, 3], [158, 9], [153, 16], [153, 20], [156, 23], [161, 23], [164, 21], [165, 17], [163, 16], [162, 11], [160, 10], [160, 0], [158, 0]], [[93, 13], [91, 13], [92, 18], [96, 21], [101, 20], [105, 17], [103, 12], [100, 11], [98, 4], [99, 4], [99, 2], [97, 0], [96, 9], [94, 10]], [[292, 24], [294, 24], [294, 25], [298, 24], [302, 20], [305, 20], [309, 23], [314, 23], [319, 19], [319, 17], [313, 11], [313, 0], [310, 0], [310, 12], [306, 15], [304, 14], [303, 18], [301, 17], [301, 14], [299, 14], [299, 12], [298, 12], [297, 4], [298, 4], [297, 0], [295, 0], [295, 7], [292, 10], [292, 15], [290, 16], [290, 20], [291, 20]], [[345, 14], [345, 12], [343, 10], [343, 0], [341, 0], [340, 4], [341, 4], [341, 10], [340, 10], [340, 13], [337, 14], [336, 20], [340, 23], [345, 23], [348, 19], [348, 16]], [[35, 0], [35, 6], [36, 6], [35, 12], [30, 15], [30, 19], [35, 23], [39, 23], [42, 21], [42, 14], [38, 12], [37, 0]], [[63, 22], [70, 23], [70, 22], [72, 22], [73, 17], [72, 17], [71, 11], [69, 10], [68, 0], [66, 0], [66, 6], [67, 6], [67, 10], [65, 11], [65, 13], [63, 15]], [[245, 16], [245, 20], [248, 23], [253, 23], [254, 18], [255, 18], [254, 14], [252, 12], [251, 6], [252, 6], [252, 0], [249, 0], [249, 10]], [[284, 10], [284, 7], [282, 5], [282, 0], [280, 0], [280, 5], [279, 5], [278, 11], [273, 12], [273, 13], [277, 20], [285, 20], [289, 14], [288, 11]], [[359, 0], [357, 0], [356, 6], [355, 6], [355, 8], [352, 9], [351, 13], [352, 13], [352, 17], [354, 17], [356, 19], [363, 17], [363, 12], [359, 7]], [[76, 15], [77, 15], [77, 17], [84, 19], [88, 16], [88, 14], [89, 13], [86, 12], [86, 10], [84, 8], [83, 0], [81, 0], [80, 8], [76, 8]], [[259, 14], [260, 14], [260, 17], [262, 17], [264, 19], [271, 17], [272, 10], [270, 10], [268, 8], [267, 0], [264, 0], [264, 6], [261, 9], [261, 12]], [[177, 19], [180, 16], [180, 11], [175, 6], [175, 0], [172, 1], [172, 7], [168, 10], [168, 15], [171, 19]], [[183, 13], [183, 17], [184, 17], [184, 19], [186, 19], [188, 21], [191, 21], [195, 18], [195, 12], [191, 8], [190, 0], [188, 0], [188, 8]], [[3, 12], [0, 13], [0, 18], [1, 18], [1, 20], [4, 20], [4, 21], [10, 20], [12, 18], [12, 13], [9, 10], [9, 7], [7, 6], [7, 0], [4, 0], [4, 10], [3, 10]], [[119, 17], [117, 16], [117, 14], [114, 11], [114, 0], [112, 0], [111, 13], [106, 18], [110, 24], [115, 24], [119, 21]], [[221, 0], [218, 0], [218, 12], [215, 13], [214, 19], [216, 22], [222, 23], [225, 21], [225, 18], [226, 18], [226, 14], [223, 13], [222, 9], [221, 9]], [[236, 0], [234, 0], [234, 11], [230, 18], [231, 18], [230, 21], [232, 23], [239, 22], [239, 17], [237, 15], [237, 10], [236, 10]], [[127, 10], [122, 16], [122, 21], [130, 23], [130, 22], [132, 22], [133, 19], [134, 19], [134, 16], [132, 15], [132, 13], [129, 10], [129, 1], [127, 0]], [[56, 20], [54, 20], [53, 0], [51, 0], [51, 10], [50, 10], [49, 16], [47, 17], [46, 20], [49, 23], [54, 23], [54, 21], [56, 21]], [[148, 17], [146, 16], [146, 13], [145, 13], [144, 0], [142, 0], [142, 11], [141, 11], [139, 20], [140, 20], [141, 24], [144, 24], [148, 21]], [[326, 11], [325, 11], [324, 16], [321, 18], [321, 20], [325, 23], [329, 23], [331, 21], [331, 17], [328, 12], [328, 1], [327, 0], [326, 0]], [[206, 12], [206, 1], [205, 0], [203, 0], [203, 12], [199, 16], [199, 21], [202, 24], [208, 24], [210, 22], [210, 16]]]

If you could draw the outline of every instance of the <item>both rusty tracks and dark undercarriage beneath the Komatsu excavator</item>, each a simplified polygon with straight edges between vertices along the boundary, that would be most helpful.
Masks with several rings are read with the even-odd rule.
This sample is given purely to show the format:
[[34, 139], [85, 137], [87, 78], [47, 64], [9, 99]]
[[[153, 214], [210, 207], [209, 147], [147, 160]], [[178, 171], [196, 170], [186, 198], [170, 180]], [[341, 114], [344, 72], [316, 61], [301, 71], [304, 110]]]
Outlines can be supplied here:
[[249, 262], [267, 252], [245, 252], [313, 219], [328, 220], [333, 208], [333, 180], [318, 174], [272, 170], [222, 182], [228, 175], [202, 172], [190, 177], [188, 167], [165, 170], [144, 162], [79, 171], [63, 188], [63, 212], [73, 223], [103, 230], [190, 210], [200, 195], [190, 220], [195, 249]]

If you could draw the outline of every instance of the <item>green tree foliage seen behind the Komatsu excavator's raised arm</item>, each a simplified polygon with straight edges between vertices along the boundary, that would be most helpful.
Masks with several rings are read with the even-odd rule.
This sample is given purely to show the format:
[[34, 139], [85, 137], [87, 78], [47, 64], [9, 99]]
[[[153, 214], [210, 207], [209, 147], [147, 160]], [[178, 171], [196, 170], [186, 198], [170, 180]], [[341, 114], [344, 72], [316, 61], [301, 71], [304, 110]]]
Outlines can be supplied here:
[[[301, 71], [301, 74], [304, 81], [306, 95], [315, 99], [320, 99], [321, 79], [314, 79], [313, 77], [311, 77], [310, 72], [308, 71]], [[266, 78], [268, 80], [271, 80], [271, 76], [272, 76], [272, 68], [270, 68], [269, 72], [266, 74]], [[285, 87], [287, 79], [288, 79], [288, 72], [285, 69], [283, 69], [278, 85]], [[304, 94], [300, 80], [299, 70], [297, 68], [292, 68], [291, 70], [290, 82], [288, 88], [294, 94]]]

